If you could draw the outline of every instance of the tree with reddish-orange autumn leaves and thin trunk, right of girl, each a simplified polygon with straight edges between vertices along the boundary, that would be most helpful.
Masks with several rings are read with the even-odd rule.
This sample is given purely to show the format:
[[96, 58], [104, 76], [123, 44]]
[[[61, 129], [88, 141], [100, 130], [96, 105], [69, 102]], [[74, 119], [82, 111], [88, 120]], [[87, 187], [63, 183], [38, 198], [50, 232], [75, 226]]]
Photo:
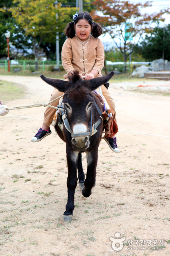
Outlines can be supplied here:
[[[165, 10], [159, 13], [144, 13], [144, 9], [151, 6], [149, 2], [134, 4], [129, 1], [97, 0], [93, 4], [95, 6], [95, 10], [91, 12], [93, 20], [101, 24], [104, 33], [109, 33], [120, 49], [125, 73], [127, 57], [134, 51], [134, 46], [138, 44], [141, 36], [152, 30], [151, 24], [164, 20], [162, 15]], [[125, 27], [127, 27], [126, 31]]]

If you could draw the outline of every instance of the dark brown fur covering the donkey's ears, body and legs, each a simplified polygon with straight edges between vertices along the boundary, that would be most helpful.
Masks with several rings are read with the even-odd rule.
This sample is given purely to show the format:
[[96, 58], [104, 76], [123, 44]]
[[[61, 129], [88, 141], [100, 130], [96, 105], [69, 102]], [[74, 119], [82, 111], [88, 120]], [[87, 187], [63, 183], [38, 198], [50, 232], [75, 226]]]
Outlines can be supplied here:
[[[100, 85], [105, 84], [114, 75], [112, 71], [110, 74], [104, 77], [94, 78], [88, 81], [82, 80], [77, 72], [69, 77], [69, 82], [62, 81], [59, 79], [50, 79], [41, 75], [41, 78], [51, 84], [61, 92], [65, 92], [63, 96], [63, 103], [69, 103], [72, 107], [72, 114], [67, 116], [70, 127], [72, 129], [73, 125], [77, 122], [85, 123], [90, 129], [90, 115], [88, 116], [85, 108], [89, 101], [92, 101], [92, 111], [93, 111], [93, 124], [99, 119], [99, 114], [94, 102], [97, 103], [101, 110], [100, 101], [92, 93], [92, 90], [97, 89]], [[67, 112], [67, 109], [66, 109]], [[58, 121], [58, 120], [57, 120]], [[68, 189], [68, 200], [66, 204], [66, 211], [64, 216], [73, 215], [74, 210], [74, 193], [77, 186], [77, 181], [79, 183], [84, 183], [84, 188], [82, 189], [82, 194], [85, 197], [89, 197], [92, 193], [91, 190], [96, 182], [96, 166], [98, 158], [98, 146], [100, 144], [102, 135], [102, 123], [97, 127], [97, 133], [89, 138], [90, 144], [87, 149], [79, 149], [76, 145], [72, 144], [72, 137], [69, 131], [64, 127], [63, 134], [57, 125], [55, 129], [59, 137], [66, 142], [66, 155], [67, 155], [67, 166], [68, 166], [68, 177], [67, 177], [67, 189]], [[85, 152], [87, 156], [87, 174], [86, 179], [82, 164], [81, 164], [81, 153]], [[78, 168], [78, 178], [77, 178], [77, 168]], [[70, 219], [69, 219], [70, 220]]]

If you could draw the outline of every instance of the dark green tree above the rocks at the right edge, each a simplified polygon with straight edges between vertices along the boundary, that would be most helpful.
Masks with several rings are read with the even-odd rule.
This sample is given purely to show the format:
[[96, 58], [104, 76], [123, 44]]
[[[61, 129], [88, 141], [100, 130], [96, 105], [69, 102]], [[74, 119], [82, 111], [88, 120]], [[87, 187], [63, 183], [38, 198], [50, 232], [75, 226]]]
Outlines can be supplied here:
[[136, 45], [135, 52], [141, 54], [146, 60], [151, 61], [162, 58], [164, 47], [164, 59], [170, 60], [170, 24], [164, 30], [163, 42], [163, 28], [155, 27], [150, 35]]

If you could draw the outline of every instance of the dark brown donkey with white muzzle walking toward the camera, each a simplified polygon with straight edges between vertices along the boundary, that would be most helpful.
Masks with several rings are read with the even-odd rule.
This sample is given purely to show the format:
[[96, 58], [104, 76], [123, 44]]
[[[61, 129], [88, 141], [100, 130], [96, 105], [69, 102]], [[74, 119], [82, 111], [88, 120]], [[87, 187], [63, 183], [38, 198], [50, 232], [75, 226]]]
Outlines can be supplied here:
[[[78, 179], [84, 197], [89, 197], [93, 186], [95, 186], [98, 146], [103, 131], [103, 115], [100, 101], [92, 91], [100, 85], [106, 84], [114, 74], [112, 71], [103, 77], [83, 80], [78, 72], [74, 71], [74, 74], [69, 76], [69, 81], [40, 76], [47, 84], [65, 93], [63, 103], [59, 107], [62, 118], [58, 115], [55, 130], [59, 137], [66, 142], [68, 199], [66, 211], [63, 214], [66, 222], [72, 220], [74, 193]], [[63, 131], [58, 123], [63, 123]], [[81, 153], [83, 152], [86, 153], [88, 163], [86, 179], [81, 162]]]

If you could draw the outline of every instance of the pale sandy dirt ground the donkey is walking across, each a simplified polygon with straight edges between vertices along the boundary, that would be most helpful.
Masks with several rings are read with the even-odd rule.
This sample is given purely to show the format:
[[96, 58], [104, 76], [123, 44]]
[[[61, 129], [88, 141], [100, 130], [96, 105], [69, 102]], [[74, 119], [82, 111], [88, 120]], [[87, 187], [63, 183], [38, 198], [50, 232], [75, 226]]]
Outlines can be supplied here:
[[[26, 88], [25, 98], [5, 102], [8, 107], [47, 103], [53, 90], [38, 77], [0, 75], [0, 80]], [[141, 83], [157, 87], [137, 88]], [[45, 108], [0, 117], [1, 256], [170, 255], [170, 97], [163, 95], [170, 87], [163, 85], [170, 81], [111, 84], [120, 153], [101, 141], [96, 187], [89, 198], [76, 189], [70, 223], [62, 219], [65, 144], [53, 127], [50, 136], [31, 142]], [[85, 154], [82, 158], [86, 172]], [[109, 239], [116, 239], [116, 232], [125, 237], [121, 251], [113, 250]]]

